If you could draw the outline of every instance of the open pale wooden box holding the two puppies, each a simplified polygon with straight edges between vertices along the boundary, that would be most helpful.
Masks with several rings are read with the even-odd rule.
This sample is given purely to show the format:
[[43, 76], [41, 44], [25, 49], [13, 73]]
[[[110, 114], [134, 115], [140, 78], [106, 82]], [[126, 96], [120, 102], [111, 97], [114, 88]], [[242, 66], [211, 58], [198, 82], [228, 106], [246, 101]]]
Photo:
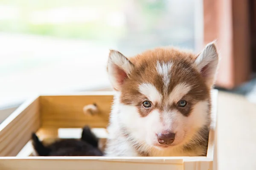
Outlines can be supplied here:
[[[212, 91], [212, 125], [207, 156], [198, 157], [41, 157], [30, 156], [31, 133], [41, 139], [58, 137], [60, 128], [106, 128], [113, 101], [112, 91], [72, 95], [36, 96], [23, 103], [0, 124], [0, 170], [212, 170], [216, 100]], [[99, 112], [84, 114], [86, 105], [96, 103]], [[104, 140], [103, 140], [104, 141]]]

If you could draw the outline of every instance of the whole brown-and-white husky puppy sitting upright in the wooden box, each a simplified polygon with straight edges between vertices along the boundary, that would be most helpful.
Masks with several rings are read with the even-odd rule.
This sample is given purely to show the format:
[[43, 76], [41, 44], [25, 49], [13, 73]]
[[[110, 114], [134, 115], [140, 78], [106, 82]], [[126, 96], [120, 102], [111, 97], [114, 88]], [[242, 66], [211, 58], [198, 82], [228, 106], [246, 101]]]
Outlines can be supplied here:
[[[111, 58], [112, 56], [114, 59]], [[162, 65], [162, 68], [159, 68], [162, 63], [165, 66]], [[210, 91], [214, 83], [217, 65], [218, 54], [214, 43], [207, 45], [201, 54], [163, 47], [147, 50], [137, 56], [126, 58], [118, 51], [111, 51], [108, 61], [108, 67], [111, 67], [111, 71], [109, 71], [109, 68], [107, 70], [111, 76], [113, 88], [119, 93], [111, 113], [111, 138], [108, 139], [106, 147], [107, 156], [205, 156], [210, 125]], [[165, 73], [161, 74], [159, 69], [163, 69]], [[143, 102], [147, 99], [147, 96], [145, 96], [147, 91], [140, 90], [142, 83], [147, 83], [146, 85], [149, 85], [150, 91], [154, 91], [154, 88], [157, 89], [155, 90], [157, 91], [156, 94], [153, 94], [156, 100], [150, 108], [143, 106]], [[183, 90], [188, 89], [187, 91], [184, 90], [186, 92], [182, 94], [182, 100], [187, 102], [186, 107], [178, 106], [181, 95], [176, 94], [180, 97], [177, 100], [175, 94], [170, 95], [176, 91], [182, 91], [178, 88], [178, 90], [174, 90], [176, 87]], [[170, 103], [170, 97], [172, 103]], [[197, 109], [195, 110], [195, 108]], [[203, 110], [199, 111], [201, 108]], [[155, 111], [151, 114], [153, 117], [147, 117], [152, 111]], [[178, 144], [168, 146], [164, 151], [159, 151], [152, 145], [145, 144], [145, 135], [143, 134], [154, 136], [152, 134], [156, 133], [154, 131], [156, 128], [153, 128], [153, 130], [151, 128], [151, 125], [154, 126], [153, 124], [158, 125], [155, 127], [159, 127], [162, 130], [161, 133], [170, 133], [168, 131], [169, 127], [167, 129], [161, 128], [166, 128], [163, 125], [172, 125], [172, 122], [165, 122], [165, 120], [175, 120], [169, 115], [172, 111], [174, 111], [175, 117], [179, 119], [179, 121], [176, 120], [178, 122], [176, 130], [183, 128], [182, 133], [179, 133], [185, 136], [180, 138], [181, 142], [179, 143], [177, 139]], [[126, 116], [130, 113], [133, 113], [132, 116]], [[156, 116], [157, 114], [159, 114], [159, 117]], [[182, 115], [182, 118], [180, 115]], [[169, 117], [166, 118], [166, 116]], [[145, 127], [138, 123], [133, 124], [133, 117], [138, 120], [134, 122], [140, 122], [147, 127], [146, 131], [143, 130]], [[128, 120], [126, 120], [127, 118]], [[197, 118], [201, 119], [198, 120]], [[191, 121], [187, 122], [189, 119]], [[144, 123], [146, 120], [149, 120], [149, 124]], [[184, 124], [184, 127], [180, 127]], [[137, 130], [140, 131], [137, 132]], [[150, 140], [154, 141], [155, 137]], [[154, 145], [157, 144], [154, 143]]]

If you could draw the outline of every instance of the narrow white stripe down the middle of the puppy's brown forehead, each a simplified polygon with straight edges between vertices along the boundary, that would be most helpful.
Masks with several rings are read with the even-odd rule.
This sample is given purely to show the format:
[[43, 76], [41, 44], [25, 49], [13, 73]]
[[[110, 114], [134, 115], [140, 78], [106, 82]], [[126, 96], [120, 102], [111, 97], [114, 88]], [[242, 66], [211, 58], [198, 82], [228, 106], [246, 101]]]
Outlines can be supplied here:
[[167, 91], [168, 85], [170, 83], [170, 70], [172, 68], [172, 63], [168, 62], [168, 63], [160, 63], [159, 61], [157, 61], [157, 72], [163, 76], [163, 83], [165, 85], [165, 91]]

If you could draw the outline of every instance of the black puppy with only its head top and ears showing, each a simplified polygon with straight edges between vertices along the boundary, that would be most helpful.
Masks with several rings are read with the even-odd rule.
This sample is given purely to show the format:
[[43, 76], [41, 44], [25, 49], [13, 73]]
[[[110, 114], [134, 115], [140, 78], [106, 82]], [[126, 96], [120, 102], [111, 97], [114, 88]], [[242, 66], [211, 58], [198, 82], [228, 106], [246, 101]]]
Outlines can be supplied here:
[[88, 126], [83, 128], [81, 139], [61, 139], [47, 146], [32, 133], [32, 145], [38, 156], [103, 156], [98, 142]]

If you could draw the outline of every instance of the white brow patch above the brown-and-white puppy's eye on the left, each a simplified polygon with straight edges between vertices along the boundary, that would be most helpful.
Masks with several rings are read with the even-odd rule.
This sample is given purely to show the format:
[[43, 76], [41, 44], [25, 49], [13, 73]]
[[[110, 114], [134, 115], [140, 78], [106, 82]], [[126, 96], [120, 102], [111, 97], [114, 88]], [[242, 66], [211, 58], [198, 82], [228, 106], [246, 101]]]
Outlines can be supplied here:
[[144, 94], [152, 102], [161, 102], [162, 95], [157, 91], [157, 88], [150, 83], [143, 83], [139, 86], [141, 94]]

